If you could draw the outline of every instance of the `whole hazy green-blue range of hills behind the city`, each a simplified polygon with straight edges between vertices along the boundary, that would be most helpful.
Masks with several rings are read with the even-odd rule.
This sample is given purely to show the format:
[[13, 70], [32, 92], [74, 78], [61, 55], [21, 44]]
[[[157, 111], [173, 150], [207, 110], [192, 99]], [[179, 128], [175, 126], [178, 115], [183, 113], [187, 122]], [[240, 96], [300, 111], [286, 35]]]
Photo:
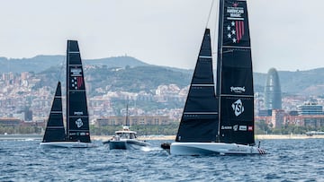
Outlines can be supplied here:
[[[8, 59], [0, 57], [0, 73], [34, 72], [41, 78], [37, 86], [55, 85], [65, 81], [61, 72], [65, 56], [35, 56], [32, 58]], [[116, 56], [84, 60], [85, 74], [94, 91], [98, 87], [109, 87], [111, 91], [151, 91], [160, 84], [175, 83], [184, 87], [190, 83], [193, 70], [148, 65], [134, 57]], [[282, 91], [285, 94], [323, 95], [324, 68], [307, 71], [279, 71]], [[254, 73], [255, 91], [263, 92], [266, 74]], [[96, 94], [95, 92], [93, 94]]]

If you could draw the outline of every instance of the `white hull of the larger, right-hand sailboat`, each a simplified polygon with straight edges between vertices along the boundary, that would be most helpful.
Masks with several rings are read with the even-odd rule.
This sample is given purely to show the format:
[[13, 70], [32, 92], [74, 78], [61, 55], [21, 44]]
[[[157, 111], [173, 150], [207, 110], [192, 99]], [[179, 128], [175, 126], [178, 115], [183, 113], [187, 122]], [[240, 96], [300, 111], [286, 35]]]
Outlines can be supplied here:
[[171, 143], [173, 155], [209, 155], [209, 154], [266, 154], [266, 151], [236, 143]]

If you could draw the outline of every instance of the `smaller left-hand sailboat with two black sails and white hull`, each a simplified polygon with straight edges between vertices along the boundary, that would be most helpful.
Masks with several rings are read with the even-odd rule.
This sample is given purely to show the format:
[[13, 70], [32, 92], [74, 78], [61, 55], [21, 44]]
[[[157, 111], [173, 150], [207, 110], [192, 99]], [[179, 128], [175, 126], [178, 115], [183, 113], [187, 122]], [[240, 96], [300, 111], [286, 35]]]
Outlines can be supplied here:
[[40, 146], [93, 147], [94, 144], [90, 140], [84, 71], [76, 40], [67, 40], [67, 130], [65, 133], [62, 133], [65, 130], [60, 82], [58, 82], [57, 94], [59, 97], [54, 98], [48, 126]]

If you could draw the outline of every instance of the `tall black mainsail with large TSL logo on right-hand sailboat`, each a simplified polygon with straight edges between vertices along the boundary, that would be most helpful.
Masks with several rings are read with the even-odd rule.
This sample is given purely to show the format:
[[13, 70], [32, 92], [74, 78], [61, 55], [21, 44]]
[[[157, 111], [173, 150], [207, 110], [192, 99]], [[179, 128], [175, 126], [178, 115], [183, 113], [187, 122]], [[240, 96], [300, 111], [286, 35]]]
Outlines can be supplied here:
[[216, 97], [222, 143], [254, 144], [254, 91], [246, 1], [220, 1]]

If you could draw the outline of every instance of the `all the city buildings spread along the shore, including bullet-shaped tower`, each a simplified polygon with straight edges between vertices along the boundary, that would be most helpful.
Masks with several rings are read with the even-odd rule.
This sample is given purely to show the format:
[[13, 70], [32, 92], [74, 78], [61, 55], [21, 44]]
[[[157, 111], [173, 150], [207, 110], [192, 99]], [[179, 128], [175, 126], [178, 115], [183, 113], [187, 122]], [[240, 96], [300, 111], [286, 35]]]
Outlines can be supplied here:
[[[45, 126], [49, 116], [53, 89], [49, 86], [34, 89], [40, 82], [33, 73], [4, 73], [0, 76], [0, 126]], [[159, 103], [179, 103], [184, 106], [188, 87], [179, 88], [176, 84], [158, 85], [151, 92], [107, 91], [98, 88], [102, 95], [89, 98], [89, 112], [95, 126], [124, 125], [124, 117], [116, 115], [112, 100], [134, 100], [130, 108], [130, 125], [168, 125], [178, 121], [183, 108], [161, 108], [151, 111], [137, 107], [136, 102], [145, 100]], [[63, 97], [64, 99], [65, 97]], [[324, 126], [323, 105], [320, 97], [284, 95], [280, 78], [275, 70], [268, 71], [264, 92], [256, 93], [256, 121], [266, 122], [268, 126], [280, 128], [285, 125]], [[183, 103], [183, 104], [182, 104]], [[121, 107], [120, 107], [121, 108]], [[119, 111], [120, 113], [121, 110]], [[166, 117], [167, 116], [167, 117]]]

